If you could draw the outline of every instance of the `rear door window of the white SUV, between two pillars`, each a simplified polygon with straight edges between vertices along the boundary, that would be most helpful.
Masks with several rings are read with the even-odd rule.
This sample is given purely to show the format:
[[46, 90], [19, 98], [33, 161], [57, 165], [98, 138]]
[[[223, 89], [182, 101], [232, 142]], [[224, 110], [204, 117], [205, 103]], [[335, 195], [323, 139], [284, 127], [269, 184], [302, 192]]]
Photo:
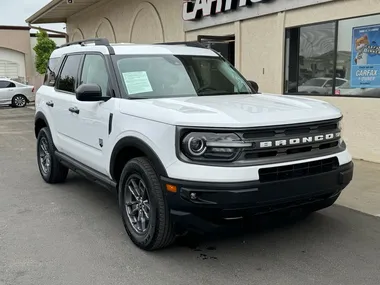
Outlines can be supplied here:
[[81, 55], [69, 55], [57, 80], [57, 89], [75, 92]]

